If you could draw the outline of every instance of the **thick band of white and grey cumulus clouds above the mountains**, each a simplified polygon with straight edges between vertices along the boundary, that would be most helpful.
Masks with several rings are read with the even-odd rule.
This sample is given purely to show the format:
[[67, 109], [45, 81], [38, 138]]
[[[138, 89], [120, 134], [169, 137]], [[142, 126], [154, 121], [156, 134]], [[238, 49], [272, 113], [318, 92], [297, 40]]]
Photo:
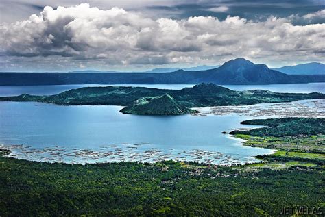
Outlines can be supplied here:
[[47, 6], [40, 15], [1, 25], [0, 53], [1, 63], [8, 68], [17, 58], [21, 62], [37, 59], [34, 64], [55, 60], [62, 67], [75, 64], [80, 68], [96, 64], [205, 64], [233, 57], [322, 61], [324, 36], [324, 23], [293, 25], [289, 18], [153, 19], [121, 8], [100, 10], [84, 3], [69, 8]]

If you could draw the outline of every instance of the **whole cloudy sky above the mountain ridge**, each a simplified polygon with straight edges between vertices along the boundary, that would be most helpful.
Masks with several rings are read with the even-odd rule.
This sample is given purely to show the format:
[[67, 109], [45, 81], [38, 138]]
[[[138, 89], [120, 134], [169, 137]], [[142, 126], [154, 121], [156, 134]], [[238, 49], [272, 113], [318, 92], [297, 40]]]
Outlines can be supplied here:
[[0, 71], [325, 62], [325, 0], [1, 0]]

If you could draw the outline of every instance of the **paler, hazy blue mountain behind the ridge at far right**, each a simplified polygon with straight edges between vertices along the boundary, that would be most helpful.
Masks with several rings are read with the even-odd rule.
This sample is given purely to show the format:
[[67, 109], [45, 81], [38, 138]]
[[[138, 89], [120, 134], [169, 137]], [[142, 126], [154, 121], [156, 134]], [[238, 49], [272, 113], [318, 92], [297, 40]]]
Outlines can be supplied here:
[[283, 66], [281, 68], [274, 68], [274, 70], [289, 75], [325, 75], [325, 64], [311, 62], [296, 66]]

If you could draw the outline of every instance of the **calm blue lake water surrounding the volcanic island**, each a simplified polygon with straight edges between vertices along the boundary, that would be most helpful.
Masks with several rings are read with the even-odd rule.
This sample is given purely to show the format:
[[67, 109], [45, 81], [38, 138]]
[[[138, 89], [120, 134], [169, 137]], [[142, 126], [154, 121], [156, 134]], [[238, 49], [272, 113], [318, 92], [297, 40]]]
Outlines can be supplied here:
[[[56, 94], [82, 86], [88, 85], [0, 86], [0, 95]], [[184, 86], [149, 87], [178, 89]], [[227, 87], [232, 90], [262, 88], [275, 92], [325, 90], [324, 84]], [[319, 101], [306, 101], [304, 105], [312, 103], [315, 109], [320, 107]], [[273, 152], [242, 146], [242, 140], [221, 134], [231, 129], [257, 127], [240, 124], [242, 120], [252, 118], [249, 114], [136, 116], [121, 114], [121, 108], [0, 102], [0, 144], [8, 146], [18, 158], [69, 163], [176, 159], [239, 164], [256, 162], [255, 155]], [[321, 110], [320, 115], [324, 114], [323, 107]], [[271, 115], [268, 113], [267, 116]]]

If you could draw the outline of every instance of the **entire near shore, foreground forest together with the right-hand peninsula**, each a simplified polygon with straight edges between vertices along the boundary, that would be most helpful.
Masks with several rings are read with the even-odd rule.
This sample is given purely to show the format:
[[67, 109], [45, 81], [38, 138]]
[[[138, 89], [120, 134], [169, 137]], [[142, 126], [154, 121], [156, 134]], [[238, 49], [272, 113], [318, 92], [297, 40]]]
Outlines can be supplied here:
[[279, 216], [283, 207], [297, 214], [301, 206], [324, 215], [324, 118], [245, 123], [268, 127], [232, 134], [278, 151], [257, 164], [213, 166], [51, 164], [2, 149], [0, 216]]

